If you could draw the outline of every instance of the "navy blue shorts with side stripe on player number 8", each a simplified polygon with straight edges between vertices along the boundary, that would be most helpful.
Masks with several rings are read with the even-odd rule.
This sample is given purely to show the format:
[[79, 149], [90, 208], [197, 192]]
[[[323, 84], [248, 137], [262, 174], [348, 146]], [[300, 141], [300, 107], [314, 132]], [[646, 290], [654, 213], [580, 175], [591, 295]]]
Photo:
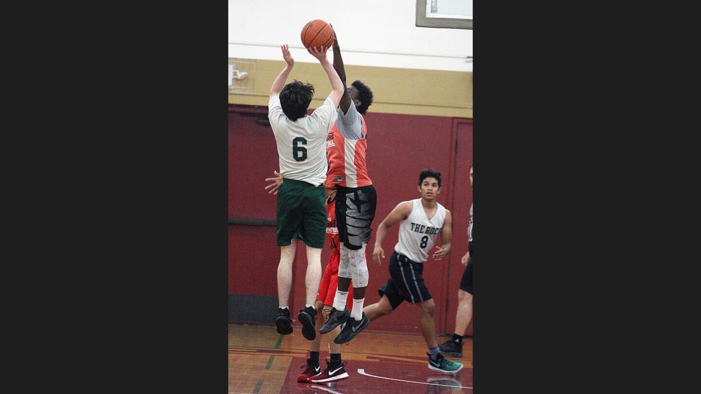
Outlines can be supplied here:
[[380, 297], [387, 296], [393, 310], [403, 301], [418, 304], [433, 298], [421, 276], [423, 264], [410, 260], [404, 254], [393, 252], [389, 269], [390, 278], [377, 292]]

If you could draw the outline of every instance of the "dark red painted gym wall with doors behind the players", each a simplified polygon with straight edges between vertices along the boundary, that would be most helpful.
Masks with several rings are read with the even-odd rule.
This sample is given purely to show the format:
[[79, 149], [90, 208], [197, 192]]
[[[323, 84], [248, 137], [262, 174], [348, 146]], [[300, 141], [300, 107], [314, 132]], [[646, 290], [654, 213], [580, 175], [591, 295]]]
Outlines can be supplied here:
[[[266, 107], [230, 105], [229, 217], [275, 219], [275, 196], [264, 190], [264, 179], [272, 177], [273, 170], [278, 169], [278, 152], [270, 126], [256, 123], [257, 118], [264, 118], [266, 114]], [[370, 279], [365, 305], [379, 301], [377, 289], [389, 277], [389, 255], [397, 243], [398, 226], [395, 225], [383, 243], [387, 256], [383, 264], [378, 267], [372, 263], [377, 226], [398, 203], [420, 196], [418, 172], [432, 167], [442, 174], [438, 202], [453, 213], [453, 250], [449, 259], [428, 259], [423, 276], [436, 304], [437, 332], [452, 332], [457, 290], [463, 272], [460, 258], [467, 250], [466, 233], [472, 203], [472, 190], [466, 177], [472, 162], [472, 120], [369, 112], [365, 121], [368, 128], [367, 165], [377, 190], [373, 236], [367, 250]], [[456, 179], [456, 175], [460, 179]], [[440, 240], [437, 245], [440, 245]], [[322, 267], [326, 266], [329, 254], [326, 245], [322, 252]], [[301, 245], [294, 262], [292, 311], [304, 307], [305, 255], [304, 245]], [[279, 257], [275, 227], [230, 224], [229, 292], [277, 296]], [[255, 274], [251, 275], [251, 272]], [[372, 322], [368, 330], [416, 333], [416, 306], [404, 303], [392, 315]], [[467, 334], [472, 334], [471, 327]]]

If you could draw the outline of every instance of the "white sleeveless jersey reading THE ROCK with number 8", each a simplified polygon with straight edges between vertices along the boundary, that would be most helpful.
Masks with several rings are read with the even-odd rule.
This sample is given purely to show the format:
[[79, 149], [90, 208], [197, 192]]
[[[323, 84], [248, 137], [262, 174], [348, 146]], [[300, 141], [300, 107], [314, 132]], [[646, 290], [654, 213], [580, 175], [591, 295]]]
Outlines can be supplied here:
[[436, 203], [438, 206], [435, 215], [428, 220], [421, 206], [421, 198], [411, 200], [411, 203], [414, 208], [407, 219], [399, 224], [399, 242], [395, 245], [395, 251], [417, 263], [423, 263], [428, 259], [428, 252], [443, 228], [445, 208]]

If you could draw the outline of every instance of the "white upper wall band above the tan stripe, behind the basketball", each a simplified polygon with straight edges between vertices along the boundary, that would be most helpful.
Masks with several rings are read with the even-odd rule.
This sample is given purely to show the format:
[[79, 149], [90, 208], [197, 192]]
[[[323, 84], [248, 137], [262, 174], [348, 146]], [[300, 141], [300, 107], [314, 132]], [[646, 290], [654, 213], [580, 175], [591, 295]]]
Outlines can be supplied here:
[[334, 25], [345, 64], [472, 72], [472, 30], [416, 27], [415, 0], [229, 0], [229, 57], [283, 60], [286, 43], [316, 62], [300, 39], [313, 19]]

